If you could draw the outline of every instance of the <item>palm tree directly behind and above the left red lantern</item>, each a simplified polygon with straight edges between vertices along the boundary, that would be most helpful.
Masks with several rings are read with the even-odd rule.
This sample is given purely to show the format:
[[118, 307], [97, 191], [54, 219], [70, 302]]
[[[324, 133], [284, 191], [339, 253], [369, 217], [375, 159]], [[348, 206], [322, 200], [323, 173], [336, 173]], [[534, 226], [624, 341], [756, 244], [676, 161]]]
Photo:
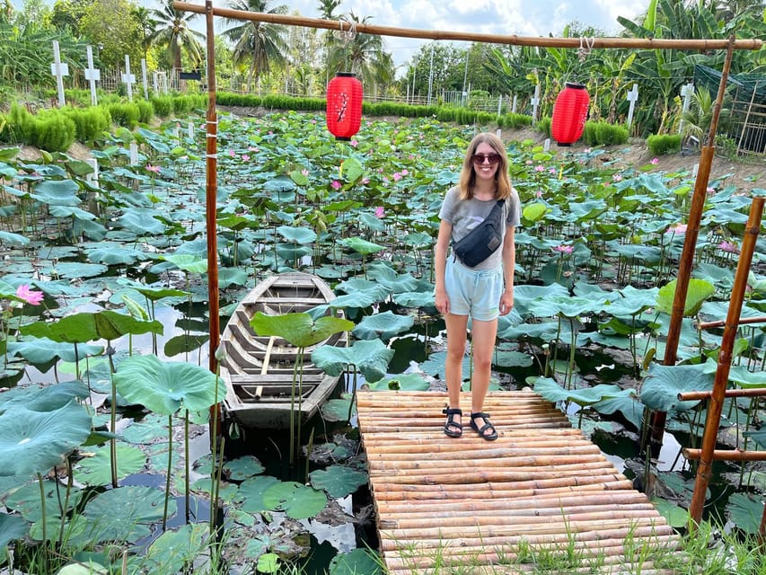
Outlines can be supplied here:
[[[349, 13], [351, 22], [366, 23], [353, 13]], [[359, 75], [362, 84], [374, 86], [374, 93], [380, 85], [391, 83], [394, 66], [393, 57], [383, 50], [383, 39], [374, 34], [354, 34], [348, 41], [335, 45], [328, 55], [330, 71], [351, 71]]]

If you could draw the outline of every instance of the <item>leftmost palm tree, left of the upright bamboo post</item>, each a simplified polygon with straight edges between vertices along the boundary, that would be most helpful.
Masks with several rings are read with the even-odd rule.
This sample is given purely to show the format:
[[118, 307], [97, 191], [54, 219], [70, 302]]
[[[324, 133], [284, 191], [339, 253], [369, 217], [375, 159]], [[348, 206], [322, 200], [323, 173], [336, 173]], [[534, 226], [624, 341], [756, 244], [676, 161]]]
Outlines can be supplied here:
[[180, 72], [181, 55], [184, 53], [191, 60], [192, 66], [197, 67], [202, 61], [202, 45], [200, 40], [205, 36], [202, 32], [192, 30], [189, 22], [198, 16], [194, 12], [180, 12], [173, 8], [173, 0], [165, 0], [162, 8], [153, 9], [154, 31], [146, 38], [153, 46], [167, 47], [168, 64], [174, 73]]

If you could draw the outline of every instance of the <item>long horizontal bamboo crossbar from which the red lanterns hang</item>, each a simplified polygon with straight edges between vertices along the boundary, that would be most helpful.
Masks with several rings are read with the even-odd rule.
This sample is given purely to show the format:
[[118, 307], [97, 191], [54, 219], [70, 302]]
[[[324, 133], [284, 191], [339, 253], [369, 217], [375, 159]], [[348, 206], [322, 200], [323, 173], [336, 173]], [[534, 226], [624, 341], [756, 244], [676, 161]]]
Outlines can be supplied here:
[[[173, 2], [176, 10], [184, 12], [204, 13], [205, 8], [198, 4], [187, 2]], [[233, 18], [237, 20], [249, 20], [251, 22], [269, 22], [272, 24], [286, 24], [289, 26], [303, 26], [304, 28], [322, 28], [324, 30], [337, 30], [348, 32], [352, 27], [357, 33], [374, 34], [377, 36], [398, 36], [400, 38], [419, 38], [423, 40], [459, 40], [487, 42], [489, 44], [513, 44], [515, 46], [547, 46], [551, 48], [582, 48], [581, 38], [546, 38], [543, 36], [524, 37], [515, 34], [477, 34], [472, 32], [445, 31], [445, 30], [418, 30], [415, 28], [397, 28], [393, 26], [376, 26], [363, 22], [346, 22], [344, 20], [321, 20], [318, 18], [305, 18], [288, 14], [248, 12], [232, 10], [230, 8], [214, 8], [216, 16]], [[665, 40], [661, 38], [589, 38], [590, 48], [626, 48], [626, 49], [689, 49], [689, 50], [715, 50], [726, 49], [729, 40]], [[757, 50], [762, 47], [762, 40], [735, 40], [732, 44], [734, 49]]]

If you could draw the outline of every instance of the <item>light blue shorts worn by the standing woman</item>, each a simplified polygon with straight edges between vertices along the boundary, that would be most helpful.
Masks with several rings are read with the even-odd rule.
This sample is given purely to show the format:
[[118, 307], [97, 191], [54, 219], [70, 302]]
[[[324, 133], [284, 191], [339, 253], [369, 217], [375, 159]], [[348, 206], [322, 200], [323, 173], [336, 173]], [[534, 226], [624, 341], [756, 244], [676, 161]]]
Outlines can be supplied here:
[[471, 315], [474, 320], [491, 322], [500, 314], [500, 296], [505, 288], [503, 267], [473, 270], [450, 255], [445, 267], [445, 290], [450, 298], [450, 314]]

